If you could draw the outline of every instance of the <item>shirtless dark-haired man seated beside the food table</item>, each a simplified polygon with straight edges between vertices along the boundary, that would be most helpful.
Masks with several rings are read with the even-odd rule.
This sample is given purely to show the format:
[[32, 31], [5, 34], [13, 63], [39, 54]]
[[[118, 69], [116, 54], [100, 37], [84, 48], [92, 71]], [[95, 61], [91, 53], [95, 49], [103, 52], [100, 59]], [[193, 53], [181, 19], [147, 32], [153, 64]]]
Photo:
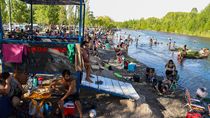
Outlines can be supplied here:
[[[68, 102], [69, 99], [74, 101], [76, 108], [79, 112], [80, 118], [82, 118], [82, 107], [79, 100], [79, 93], [77, 92], [76, 89], [76, 80], [71, 77], [71, 73], [69, 70], [64, 70], [62, 72], [62, 76], [63, 76], [62, 79], [54, 81], [50, 85], [52, 89], [58, 89], [61, 92], [65, 91], [64, 96], [58, 102], [59, 107], [62, 111], [62, 118], [65, 118], [63, 112], [64, 102]], [[57, 86], [59, 86], [59, 88], [57, 88]]]

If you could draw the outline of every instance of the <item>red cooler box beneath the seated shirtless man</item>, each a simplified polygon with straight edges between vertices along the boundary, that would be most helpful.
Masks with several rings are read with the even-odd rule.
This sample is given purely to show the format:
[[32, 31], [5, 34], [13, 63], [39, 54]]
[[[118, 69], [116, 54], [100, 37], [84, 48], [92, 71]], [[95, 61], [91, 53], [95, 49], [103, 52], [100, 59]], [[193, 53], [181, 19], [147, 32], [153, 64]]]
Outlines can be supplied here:
[[69, 101], [64, 104], [64, 115], [65, 116], [74, 116], [75, 115], [75, 105], [72, 101]]

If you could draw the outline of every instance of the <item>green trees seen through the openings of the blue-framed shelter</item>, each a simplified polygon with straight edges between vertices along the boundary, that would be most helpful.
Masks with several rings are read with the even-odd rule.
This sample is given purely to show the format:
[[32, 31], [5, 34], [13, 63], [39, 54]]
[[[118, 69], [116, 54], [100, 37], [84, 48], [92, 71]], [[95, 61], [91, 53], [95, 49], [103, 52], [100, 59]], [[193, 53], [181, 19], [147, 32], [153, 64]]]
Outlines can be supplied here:
[[[4, 24], [8, 24], [9, 0], [0, 0], [0, 5], [2, 12], [2, 21]], [[27, 5], [20, 0], [11, 0], [11, 13], [12, 23], [30, 23], [30, 5]], [[41, 25], [73, 25], [78, 22], [78, 7], [58, 5], [34, 5], [33, 19], [34, 23]]]

